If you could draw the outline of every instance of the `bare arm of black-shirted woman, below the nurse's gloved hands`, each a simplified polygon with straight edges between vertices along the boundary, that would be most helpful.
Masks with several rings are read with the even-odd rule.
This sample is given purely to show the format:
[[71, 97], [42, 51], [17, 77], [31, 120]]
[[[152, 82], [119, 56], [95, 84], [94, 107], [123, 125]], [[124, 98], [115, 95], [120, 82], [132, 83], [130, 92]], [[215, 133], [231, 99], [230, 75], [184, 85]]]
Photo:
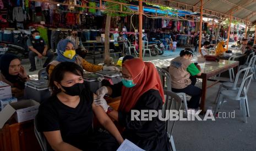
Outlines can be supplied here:
[[95, 106], [95, 104], [92, 103], [92, 111], [94, 111], [94, 114], [96, 115], [96, 118], [100, 121], [100, 124], [103, 125], [105, 129], [116, 138], [119, 144], [121, 144], [123, 142], [123, 137], [117, 130], [116, 125], [108, 117], [108, 115], [105, 113], [102, 107]]

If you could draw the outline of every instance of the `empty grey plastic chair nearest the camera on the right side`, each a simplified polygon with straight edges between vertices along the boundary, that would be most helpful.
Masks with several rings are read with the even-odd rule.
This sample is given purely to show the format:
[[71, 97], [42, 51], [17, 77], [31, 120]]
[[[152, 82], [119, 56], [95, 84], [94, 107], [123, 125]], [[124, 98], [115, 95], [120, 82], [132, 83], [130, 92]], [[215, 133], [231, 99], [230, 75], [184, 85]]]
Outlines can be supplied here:
[[228, 98], [230, 100], [239, 101], [239, 103], [242, 105], [244, 123], [247, 123], [247, 116], [249, 117], [249, 105], [248, 105], [247, 92], [248, 92], [250, 83], [252, 82], [252, 77], [253, 77], [253, 73], [248, 75], [246, 78], [244, 78], [239, 90], [221, 91], [219, 100], [217, 102], [217, 105], [214, 111], [214, 115], [216, 115], [217, 111], [220, 109], [221, 104], [223, 104], [224, 102], [224, 99]]

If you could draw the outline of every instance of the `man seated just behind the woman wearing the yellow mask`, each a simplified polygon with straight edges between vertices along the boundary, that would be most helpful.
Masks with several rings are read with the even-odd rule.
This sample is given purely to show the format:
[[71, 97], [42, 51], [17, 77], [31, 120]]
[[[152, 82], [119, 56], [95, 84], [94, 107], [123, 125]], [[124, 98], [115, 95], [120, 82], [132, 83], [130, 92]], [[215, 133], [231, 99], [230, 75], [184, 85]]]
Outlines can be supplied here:
[[81, 38], [78, 37], [78, 32], [76, 30], [72, 30], [71, 35], [68, 36], [67, 39], [74, 43], [75, 53], [84, 58], [88, 50], [84, 48]]

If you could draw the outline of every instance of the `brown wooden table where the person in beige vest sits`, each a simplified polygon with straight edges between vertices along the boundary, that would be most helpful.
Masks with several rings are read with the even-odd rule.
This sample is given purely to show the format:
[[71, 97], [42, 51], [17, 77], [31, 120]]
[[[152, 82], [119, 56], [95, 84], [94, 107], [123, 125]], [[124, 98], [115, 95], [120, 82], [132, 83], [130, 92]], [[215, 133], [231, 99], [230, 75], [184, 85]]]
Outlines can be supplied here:
[[[230, 68], [238, 69], [238, 66], [239, 66], [238, 61], [228, 61], [228, 60], [220, 60], [219, 62], [206, 61], [204, 63], [205, 63], [205, 66], [204, 67], [201, 66], [202, 74], [200, 76], [197, 76], [197, 78], [203, 79], [202, 95], [201, 95], [201, 103], [200, 103], [200, 109], [202, 110], [201, 113], [205, 112], [206, 89], [219, 82], [219, 81], [216, 81], [214, 84], [207, 86], [207, 79], [214, 77], [214, 75], [217, 75], [219, 73], [228, 71], [228, 69]], [[200, 64], [201, 63], [199, 62], [199, 65]]]

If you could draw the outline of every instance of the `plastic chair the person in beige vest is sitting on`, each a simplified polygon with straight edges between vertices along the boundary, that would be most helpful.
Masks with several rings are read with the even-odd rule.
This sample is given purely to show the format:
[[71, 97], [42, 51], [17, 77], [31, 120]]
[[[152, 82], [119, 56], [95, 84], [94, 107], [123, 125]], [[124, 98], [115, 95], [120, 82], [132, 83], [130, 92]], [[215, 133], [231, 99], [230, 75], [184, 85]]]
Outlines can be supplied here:
[[[157, 72], [159, 74], [159, 77], [161, 79], [161, 82], [163, 84], [163, 87], [165, 90], [168, 90], [168, 91], [172, 91], [172, 87], [171, 87], [171, 75], [169, 72], [165, 71], [165, 69], [162, 69], [160, 67], [156, 67], [157, 69]], [[165, 85], [167, 87], [165, 87]], [[182, 101], [184, 102], [184, 107], [186, 109], [186, 112], [188, 111], [188, 105], [187, 105], [187, 96], [185, 93], [183, 92], [180, 92], [180, 93], [176, 93], [181, 99]], [[188, 113], [188, 112], [187, 112]]]

